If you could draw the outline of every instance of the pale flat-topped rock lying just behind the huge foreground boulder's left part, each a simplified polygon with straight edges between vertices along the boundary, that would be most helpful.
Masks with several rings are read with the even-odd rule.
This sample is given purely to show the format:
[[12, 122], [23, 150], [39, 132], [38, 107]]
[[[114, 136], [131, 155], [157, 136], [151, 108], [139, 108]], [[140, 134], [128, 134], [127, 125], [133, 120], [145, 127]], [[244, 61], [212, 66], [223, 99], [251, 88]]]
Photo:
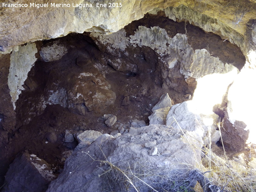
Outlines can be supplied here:
[[87, 130], [87, 131], [84, 131], [84, 132], [77, 132], [76, 134], [74, 134], [74, 137], [76, 138], [76, 140], [79, 143], [80, 142], [90, 142], [90, 143], [92, 143], [93, 141], [95, 141], [101, 135], [102, 135], [101, 132], [93, 131], [93, 130]]

